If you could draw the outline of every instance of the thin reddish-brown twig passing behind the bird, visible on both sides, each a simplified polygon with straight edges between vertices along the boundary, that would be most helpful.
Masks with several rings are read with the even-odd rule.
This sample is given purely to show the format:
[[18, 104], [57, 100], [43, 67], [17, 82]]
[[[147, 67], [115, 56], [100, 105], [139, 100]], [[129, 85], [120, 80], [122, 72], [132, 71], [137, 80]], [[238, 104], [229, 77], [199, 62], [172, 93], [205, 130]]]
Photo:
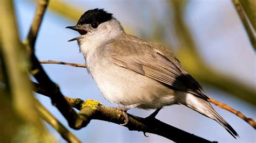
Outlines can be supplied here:
[[[46, 61], [47, 63], [57, 63], [57, 64], [62, 64], [62, 65], [68, 65], [68, 66], [73, 66], [73, 67], [83, 67], [86, 68], [86, 65], [82, 65], [80, 66], [80, 64], [77, 63], [66, 63], [66, 62], [59, 62], [59, 61], [52, 61], [52, 60], [48, 60]], [[41, 61], [41, 63], [45, 63], [45, 61]], [[248, 124], [250, 124], [253, 128], [256, 129], [256, 123], [252, 118], [247, 118], [244, 114], [242, 114], [240, 111], [234, 110], [233, 108], [231, 108], [230, 106], [224, 104], [224, 103], [220, 103], [218, 101], [215, 101], [214, 99], [210, 98], [208, 100], [208, 102], [213, 103], [214, 105], [223, 108], [227, 111], [230, 111], [232, 113], [234, 113], [235, 115], [237, 115], [238, 117], [240, 117], [241, 119], [245, 120]]]

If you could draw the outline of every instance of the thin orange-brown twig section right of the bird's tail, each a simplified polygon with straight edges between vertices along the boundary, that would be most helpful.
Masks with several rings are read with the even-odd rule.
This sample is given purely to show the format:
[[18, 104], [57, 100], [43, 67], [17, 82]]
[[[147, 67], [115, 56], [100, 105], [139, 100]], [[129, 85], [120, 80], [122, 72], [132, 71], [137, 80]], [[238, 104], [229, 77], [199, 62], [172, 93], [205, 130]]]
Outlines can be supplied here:
[[231, 108], [230, 106], [224, 104], [224, 103], [220, 103], [218, 101], [215, 101], [214, 99], [210, 98], [208, 99], [209, 102], [213, 103], [214, 105], [225, 109], [227, 111], [230, 111], [231, 113], [233, 113], [234, 115], [237, 115], [239, 118], [245, 120], [248, 124], [250, 124], [254, 129], [256, 129], [256, 123], [252, 118], [247, 118], [244, 114], [242, 114], [240, 111], [237, 111], [233, 108]]

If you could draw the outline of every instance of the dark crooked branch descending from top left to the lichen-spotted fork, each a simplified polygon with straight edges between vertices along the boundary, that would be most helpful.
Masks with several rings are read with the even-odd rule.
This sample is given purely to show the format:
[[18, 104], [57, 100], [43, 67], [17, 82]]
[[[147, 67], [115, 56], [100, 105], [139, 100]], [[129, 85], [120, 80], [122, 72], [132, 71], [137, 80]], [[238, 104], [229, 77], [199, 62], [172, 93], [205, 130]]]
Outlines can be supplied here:
[[59, 90], [58, 85], [51, 81], [51, 79], [45, 73], [44, 69], [37, 60], [35, 53], [33, 52], [34, 47], [31, 47], [35, 46], [33, 44], [35, 44], [37, 32], [41, 25], [47, 5], [48, 0], [41, 0], [39, 2], [36, 10], [37, 12], [32, 23], [33, 28], [30, 28], [30, 34], [28, 35], [24, 42], [26, 49], [28, 49], [29, 52], [32, 52], [32, 70], [30, 70], [30, 73], [36, 78], [38, 83], [40, 83], [44, 87], [44, 89], [49, 93], [50, 98], [52, 100], [52, 104], [55, 105], [57, 109], [62, 113], [62, 115], [66, 118], [66, 120], [68, 120], [69, 126], [74, 129], [79, 129], [83, 126], [84, 118], [82, 116], [79, 116], [66, 102], [65, 98]]

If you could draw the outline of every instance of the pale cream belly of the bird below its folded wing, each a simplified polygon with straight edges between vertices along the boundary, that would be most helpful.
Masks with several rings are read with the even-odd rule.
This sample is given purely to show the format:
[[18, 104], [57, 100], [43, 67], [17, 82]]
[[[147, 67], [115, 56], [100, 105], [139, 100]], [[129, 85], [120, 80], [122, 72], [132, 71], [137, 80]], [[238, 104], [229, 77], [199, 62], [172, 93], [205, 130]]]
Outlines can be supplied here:
[[113, 64], [94, 65], [91, 75], [103, 96], [122, 105], [156, 109], [175, 103], [173, 90], [149, 77]]

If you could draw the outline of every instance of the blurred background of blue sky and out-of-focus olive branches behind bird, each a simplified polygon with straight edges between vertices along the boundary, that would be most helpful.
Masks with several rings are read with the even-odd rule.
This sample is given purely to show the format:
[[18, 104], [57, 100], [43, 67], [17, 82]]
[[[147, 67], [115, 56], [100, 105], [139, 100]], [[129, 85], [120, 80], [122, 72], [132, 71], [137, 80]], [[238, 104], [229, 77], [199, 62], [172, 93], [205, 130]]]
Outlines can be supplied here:
[[[16, 0], [15, 12], [21, 40], [26, 38], [35, 14], [36, 3]], [[65, 29], [76, 25], [89, 9], [103, 8], [113, 13], [127, 33], [168, 47], [184, 67], [204, 87], [206, 94], [256, 119], [256, 56], [232, 1], [57, 1], [51, 0], [36, 42], [39, 60], [85, 63], [76, 42], [67, 42], [79, 33]], [[43, 65], [50, 78], [59, 84], [64, 95], [107, 102], [85, 68]], [[36, 96], [66, 127], [68, 124], [52, 106], [50, 98]], [[217, 122], [183, 105], [166, 106], [157, 119], [181, 130], [219, 142], [255, 142], [256, 132], [244, 120], [214, 106], [230, 123], [240, 138], [235, 140]], [[140, 117], [153, 110], [128, 111]], [[65, 142], [49, 125], [59, 142]], [[69, 128], [69, 127], [68, 127]], [[126, 127], [91, 120], [82, 130], [69, 130], [83, 142], [170, 142], [158, 135], [129, 131]]]

